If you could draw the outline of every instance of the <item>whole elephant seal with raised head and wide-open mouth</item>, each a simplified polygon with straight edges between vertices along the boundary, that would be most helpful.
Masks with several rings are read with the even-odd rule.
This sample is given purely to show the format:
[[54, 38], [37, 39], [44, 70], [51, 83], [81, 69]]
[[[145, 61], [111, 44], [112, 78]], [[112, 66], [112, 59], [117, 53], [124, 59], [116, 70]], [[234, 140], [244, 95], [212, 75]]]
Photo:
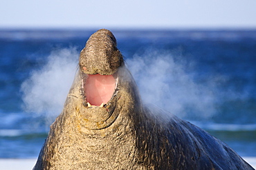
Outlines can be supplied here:
[[116, 38], [98, 30], [34, 169], [253, 169], [226, 144], [143, 105]]

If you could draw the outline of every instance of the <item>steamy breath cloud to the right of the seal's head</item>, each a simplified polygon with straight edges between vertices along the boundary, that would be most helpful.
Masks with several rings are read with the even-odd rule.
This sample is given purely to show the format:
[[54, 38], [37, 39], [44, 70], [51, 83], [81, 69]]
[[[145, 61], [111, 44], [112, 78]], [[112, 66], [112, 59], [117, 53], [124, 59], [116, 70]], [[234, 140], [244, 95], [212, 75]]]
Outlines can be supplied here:
[[[143, 100], [184, 118], [210, 118], [216, 114], [219, 78], [206, 83], [194, 81], [182, 56], [171, 52], [147, 50], [127, 60], [129, 70], [136, 79]], [[190, 63], [192, 65], [193, 63]]]

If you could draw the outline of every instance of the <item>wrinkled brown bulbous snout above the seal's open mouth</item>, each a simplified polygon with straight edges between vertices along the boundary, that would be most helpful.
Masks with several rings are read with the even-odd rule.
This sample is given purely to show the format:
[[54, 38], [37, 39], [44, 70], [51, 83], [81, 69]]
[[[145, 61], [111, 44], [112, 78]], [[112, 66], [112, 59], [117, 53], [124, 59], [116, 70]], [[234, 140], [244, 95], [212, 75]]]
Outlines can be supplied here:
[[114, 74], [123, 63], [116, 45], [116, 38], [109, 30], [92, 34], [80, 53], [80, 70], [85, 74]]

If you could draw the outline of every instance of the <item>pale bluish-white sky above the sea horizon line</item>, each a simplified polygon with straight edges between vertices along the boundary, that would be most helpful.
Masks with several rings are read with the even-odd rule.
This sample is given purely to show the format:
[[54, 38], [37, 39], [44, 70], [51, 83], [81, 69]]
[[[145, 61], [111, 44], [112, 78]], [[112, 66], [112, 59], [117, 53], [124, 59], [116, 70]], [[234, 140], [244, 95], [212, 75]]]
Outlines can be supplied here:
[[0, 1], [0, 28], [256, 28], [256, 0]]

